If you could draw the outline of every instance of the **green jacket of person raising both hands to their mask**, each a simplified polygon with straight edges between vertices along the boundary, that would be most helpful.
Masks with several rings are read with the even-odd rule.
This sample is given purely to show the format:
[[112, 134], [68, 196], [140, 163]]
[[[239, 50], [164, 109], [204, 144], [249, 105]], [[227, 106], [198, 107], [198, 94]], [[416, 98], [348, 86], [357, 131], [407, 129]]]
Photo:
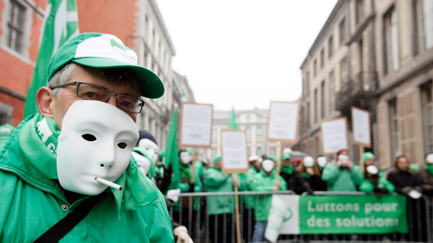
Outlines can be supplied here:
[[329, 163], [324, 167], [322, 180], [327, 182], [328, 191], [357, 191], [364, 176], [360, 170], [352, 164], [352, 170], [341, 169], [335, 163]]

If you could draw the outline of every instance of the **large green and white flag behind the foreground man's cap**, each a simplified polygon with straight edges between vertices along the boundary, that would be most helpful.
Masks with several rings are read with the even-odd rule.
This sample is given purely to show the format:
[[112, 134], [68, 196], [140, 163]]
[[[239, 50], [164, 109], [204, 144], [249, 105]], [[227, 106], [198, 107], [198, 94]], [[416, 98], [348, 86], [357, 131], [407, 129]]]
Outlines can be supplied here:
[[48, 84], [47, 68], [51, 57], [67, 40], [79, 34], [75, 0], [50, 0], [45, 10], [42, 28], [38, 58], [33, 80], [27, 92], [24, 117], [38, 110], [36, 92]]

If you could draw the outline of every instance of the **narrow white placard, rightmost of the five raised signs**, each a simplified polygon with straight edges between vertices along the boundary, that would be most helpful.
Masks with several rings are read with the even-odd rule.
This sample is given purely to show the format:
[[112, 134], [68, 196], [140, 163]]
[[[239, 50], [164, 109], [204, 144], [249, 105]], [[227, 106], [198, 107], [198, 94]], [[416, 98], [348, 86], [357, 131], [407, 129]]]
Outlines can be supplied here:
[[353, 142], [363, 147], [371, 147], [370, 112], [352, 107]]

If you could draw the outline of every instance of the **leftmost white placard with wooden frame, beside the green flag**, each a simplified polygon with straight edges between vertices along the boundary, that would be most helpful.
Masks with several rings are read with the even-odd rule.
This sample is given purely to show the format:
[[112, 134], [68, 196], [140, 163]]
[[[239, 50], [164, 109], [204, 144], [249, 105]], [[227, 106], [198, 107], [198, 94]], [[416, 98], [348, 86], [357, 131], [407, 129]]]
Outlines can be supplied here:
[[182, 103], [181, 147], [209, 148], [212, 133], [212, 105]]

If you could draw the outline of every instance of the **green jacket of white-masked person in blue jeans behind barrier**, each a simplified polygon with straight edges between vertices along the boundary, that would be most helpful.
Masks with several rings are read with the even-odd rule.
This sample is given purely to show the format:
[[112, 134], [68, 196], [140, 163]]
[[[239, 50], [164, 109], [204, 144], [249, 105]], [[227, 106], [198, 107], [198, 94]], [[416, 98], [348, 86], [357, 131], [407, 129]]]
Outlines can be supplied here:
[[[268, 176], [266, 175], [266, 172], [263, 170], [260, 170], [259, 173], [254, 175], [250, 187], [253, 191], [272, 191], [274, 185], [275, 185], [275, 179], [276, 179], [276, 171], [275, 169], [271, 172], [271, 174]], [[287, 183], [281, 177], [278, 176], [278, 180], [280, 181], [280, 187], [279, 190], [286, 190], [287, 189]], [[271, 200], [272, 195], [258, 195], [256, 202], [254, 202], [255, 205], [255, 217], [256, 221], [267, 221], [268, 220], [268, 214], [269, 209], [271, 207]]]

